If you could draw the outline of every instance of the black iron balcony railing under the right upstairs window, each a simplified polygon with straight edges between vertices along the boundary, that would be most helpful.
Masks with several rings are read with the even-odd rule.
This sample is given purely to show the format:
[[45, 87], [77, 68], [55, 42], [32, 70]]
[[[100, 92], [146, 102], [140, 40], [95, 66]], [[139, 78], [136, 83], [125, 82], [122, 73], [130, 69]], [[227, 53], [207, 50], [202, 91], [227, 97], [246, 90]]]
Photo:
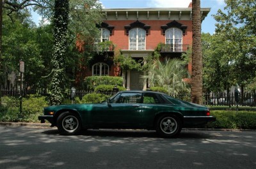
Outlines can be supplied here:
[[189, 49], [189, 45], [182, 44], [162, 44], [161, 52], [187, 52]]

